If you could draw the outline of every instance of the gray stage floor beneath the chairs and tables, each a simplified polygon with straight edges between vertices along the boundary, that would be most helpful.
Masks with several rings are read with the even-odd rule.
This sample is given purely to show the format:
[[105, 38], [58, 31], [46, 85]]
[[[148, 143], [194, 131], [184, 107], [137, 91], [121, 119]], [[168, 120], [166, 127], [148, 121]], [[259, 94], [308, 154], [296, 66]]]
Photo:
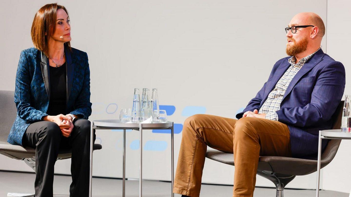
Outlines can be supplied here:
[[[0, 196], [7, 196], [11, 193], [34, 193], [34, 173], [7, 172], [0, 171]], [[67, 197], [69, 194], [69, 184], [71, 176], [55, 175], [54, 193], [55, 196]], [[93, 178], [93, 196], [94, 197], [121, 197], [122, 180], [111, 178]], [[315, 196], [316, 190], [284, 190], [285, 197], [310, 197]], [[276, 190], [273, 188], [256, 187], [254, 197], [275, 197]], [[126, 196], [139, 196], [139, 182], [126, 181]], [[143, 196], [145, 197], [169, 197], [171, 196], [171, 183], [161, 181], [143, 181]], [[175, 194], [175, 197], [180, 195]], [[227, 185], [209, 185], [201, 186], [201, 197], [229, 197], [232, 196], [232, 186]], [[336, 191], [320, 191], [320, 197], [349, 197], [348, 193]]]

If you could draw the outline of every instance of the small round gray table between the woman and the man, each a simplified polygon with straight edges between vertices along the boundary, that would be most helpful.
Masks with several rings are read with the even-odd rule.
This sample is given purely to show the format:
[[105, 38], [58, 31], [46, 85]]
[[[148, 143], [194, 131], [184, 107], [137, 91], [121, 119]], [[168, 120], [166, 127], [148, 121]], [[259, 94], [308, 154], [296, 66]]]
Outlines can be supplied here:
[[126, 170], [126, 129], [138, 130], [139, 135], [139, 153], [140, 153], [140, 164], [139, 164], [139, 197], [142, 196], [142, 172], [143, 172], [143, 129], [171, 129], [171, 154], [172, 154], [172, 197], [173, 194], [173, 183], [174, 183], [174, 144], [173, 144], [173, 122], [157, 122], [157, 123], [121, 123], [120, 120], [95, 120], [91, 122], [90, 129], [90, 179], [89, 179], [89, 197], [92, 197], [92, 177], [93, 177], [93, 133], [97, 129], [123, 129], [123, 190], [122, 196], [125, 197], [125, 170]]

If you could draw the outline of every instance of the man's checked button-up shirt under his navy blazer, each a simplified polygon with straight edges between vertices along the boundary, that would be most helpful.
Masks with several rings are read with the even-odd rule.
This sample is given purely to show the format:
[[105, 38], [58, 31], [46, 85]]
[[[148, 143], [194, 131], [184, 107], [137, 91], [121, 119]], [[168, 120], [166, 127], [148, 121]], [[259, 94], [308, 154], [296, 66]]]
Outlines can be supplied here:
[[274, 87], [274, 89], [269, 93], [266, 101], [263, 103], [258, 112], [259, 114], [266, 114], [266, 119], [278, 121], [278, 114], [276, 113], [276, 111], [280, 109], [280, 104], [282, 103], [283, 96], [292, 78], [294, 78], [294, 76], [302, 68], [305, 62], [309, 60], [312, 57], [312, 55], [317, 53], [318, 50], [316, 50], [311, 55], [307, 55], [306, 57], [302, 58], [298, 63], [295, 63], [295, 56], [292, 56], [288, 60], [291, 66], [286, 70], [282, 78], [279, 79], [279, 81], [276, 84], [276, 87]]

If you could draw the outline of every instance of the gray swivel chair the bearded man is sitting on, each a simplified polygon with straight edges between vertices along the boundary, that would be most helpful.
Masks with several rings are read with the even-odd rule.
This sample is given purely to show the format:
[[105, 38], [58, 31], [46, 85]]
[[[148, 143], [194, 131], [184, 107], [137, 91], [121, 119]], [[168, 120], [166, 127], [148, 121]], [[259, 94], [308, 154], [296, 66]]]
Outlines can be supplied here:
[[[339, 103], [335, 113], [332, 116], [333, 128], [340, 129], [341, 116], [344, 101]], [[330, 140], [322, 154], [320, 168], [325, 167], [335, 157], [341, 140]], [[219, 150], [207, 150], [206, 157], [221, 163], [234, 165], [233, 154], [221, 152]], [[296, 176], [308, 175], [317, 171], [317, 155], [316, 160], [300, 159], [292, 157], [278, 156], [260, 156], [258, 162], [257, 174], [269, 179], [276, 185], [277, 197], [283, 197], [283, 191], [292, 179]]]

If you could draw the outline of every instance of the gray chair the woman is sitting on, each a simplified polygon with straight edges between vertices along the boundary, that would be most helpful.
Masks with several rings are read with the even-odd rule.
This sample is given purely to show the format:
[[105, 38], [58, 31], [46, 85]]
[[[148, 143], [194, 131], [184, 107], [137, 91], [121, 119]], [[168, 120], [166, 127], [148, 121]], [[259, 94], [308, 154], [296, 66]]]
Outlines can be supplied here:
[[[13, 159], [23, 160], [35, 172], [35, 149], [23, 148], [7, 142], [7, 136], [16, 118], [14, 91], [0, 90], [0, 154]], [[94, 144], [94, 150], [101, 149], [101, 144]], [[60, 150], [57, 159], [71, 158], [71, 150]]]

